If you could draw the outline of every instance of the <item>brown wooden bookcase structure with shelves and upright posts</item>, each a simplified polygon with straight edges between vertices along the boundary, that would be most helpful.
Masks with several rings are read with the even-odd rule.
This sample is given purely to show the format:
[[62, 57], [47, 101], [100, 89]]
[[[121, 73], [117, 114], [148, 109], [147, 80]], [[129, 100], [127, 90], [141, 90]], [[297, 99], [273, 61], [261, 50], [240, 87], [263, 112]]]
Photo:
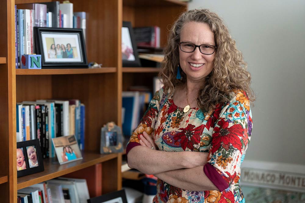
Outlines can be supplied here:
[[[0, 197], [17, 202], [17, 190], [62, 175], [81, 173], [95, 166], [102, 176], [102, 194], [122, 188], [122, 153], [100, 155], [100, 130], [109, 121], [121, 126], [122, 91], [129, 86], [152, 86], [160, 68], [122, 67], [122, 22], [132, 26], [159, 26], [164, 47], [176, 17], [187, 10], [178, 0], [70, 0], [74, 12], [84, 11], [88, 61], [102, 68], [16, 69], [15, 4], [54, 0], [0, 1]], [[98, 8], [98, 9], [97, 9]], [[86, 107], [84, 159], [59, 165], [44, 160], [45, 171], [17, 178], [16, 102], [48, 98], [75, 98]], [[95, 173], [95, 174], [97, 174]], [[90, 174], [94, 178], [93, 174]]]

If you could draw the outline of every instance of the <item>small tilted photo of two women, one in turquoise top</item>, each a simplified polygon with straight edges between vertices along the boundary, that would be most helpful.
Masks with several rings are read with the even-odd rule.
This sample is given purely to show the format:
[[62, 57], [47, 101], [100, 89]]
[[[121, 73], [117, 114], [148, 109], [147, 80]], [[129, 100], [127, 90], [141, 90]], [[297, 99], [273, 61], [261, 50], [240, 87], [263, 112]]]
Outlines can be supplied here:
[[75, 135], [52, 138], [59, 164], [83, 159]]

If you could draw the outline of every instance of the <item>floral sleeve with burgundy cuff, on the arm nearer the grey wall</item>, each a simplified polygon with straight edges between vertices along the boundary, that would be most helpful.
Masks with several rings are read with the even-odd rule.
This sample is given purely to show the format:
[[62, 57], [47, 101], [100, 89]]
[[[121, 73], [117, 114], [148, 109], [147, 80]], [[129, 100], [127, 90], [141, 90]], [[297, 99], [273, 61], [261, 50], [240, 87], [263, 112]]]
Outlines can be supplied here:
[[203, 168], [206, 176], [220, 191], [237, 182], [240, 165], [251, 138], [252, 114], [244, 91], [222, 108], [214, 124], [211, 150]]

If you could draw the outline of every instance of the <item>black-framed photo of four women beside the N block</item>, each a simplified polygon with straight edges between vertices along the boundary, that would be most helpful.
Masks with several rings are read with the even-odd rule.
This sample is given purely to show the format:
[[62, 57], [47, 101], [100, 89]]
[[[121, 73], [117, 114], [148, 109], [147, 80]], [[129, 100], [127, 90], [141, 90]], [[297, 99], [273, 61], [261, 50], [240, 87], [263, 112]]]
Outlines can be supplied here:
[[41, 68], [88, 68], [82, 29], [34, 27]]

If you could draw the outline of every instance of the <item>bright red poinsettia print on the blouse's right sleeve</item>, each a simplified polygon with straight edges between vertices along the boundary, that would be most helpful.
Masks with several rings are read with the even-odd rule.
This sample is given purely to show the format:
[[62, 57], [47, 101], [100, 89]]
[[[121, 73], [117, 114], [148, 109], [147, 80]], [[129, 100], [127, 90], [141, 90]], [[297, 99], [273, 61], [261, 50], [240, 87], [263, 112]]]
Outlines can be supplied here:
[[[228, 149], [230, 145], [238, 149], [240, 152], [242, 151], [242, 143], [240, 142], [239, 137], [243, 137], [243, 128], [240, 124], [232, 125], [228, 128], [229, 123], [220, 120], [217, 123], [220, 127], [214, 128], [213, 139], [212, 139], [212, 149], [211, 153], [216, 152], [220, 145], [222, 147]], [[238, 137], [239, 136], [239, 137]]]

